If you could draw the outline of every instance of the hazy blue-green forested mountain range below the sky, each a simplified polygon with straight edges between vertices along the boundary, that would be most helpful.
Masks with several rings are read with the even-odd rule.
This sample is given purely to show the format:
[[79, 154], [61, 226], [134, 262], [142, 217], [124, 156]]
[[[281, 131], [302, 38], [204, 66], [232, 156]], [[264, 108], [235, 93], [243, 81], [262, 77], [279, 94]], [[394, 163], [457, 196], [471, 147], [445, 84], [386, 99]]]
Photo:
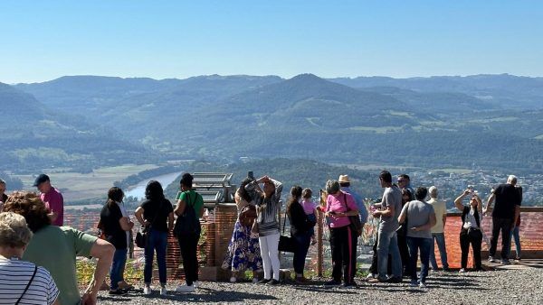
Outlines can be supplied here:
[[26, 149], [59, 165], [248, 156], [542, 171], [543, 78], [73, 76], [2, 84], [0, 106], [16, 143], [2, 161], [22, 168], [36, 165]]

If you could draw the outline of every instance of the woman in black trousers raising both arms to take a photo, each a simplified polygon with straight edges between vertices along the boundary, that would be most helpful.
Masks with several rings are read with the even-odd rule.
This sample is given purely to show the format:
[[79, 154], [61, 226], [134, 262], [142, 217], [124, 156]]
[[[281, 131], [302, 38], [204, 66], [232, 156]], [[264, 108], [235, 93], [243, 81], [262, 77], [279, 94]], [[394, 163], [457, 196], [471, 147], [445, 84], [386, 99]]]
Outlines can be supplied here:
[[[464, 206], [462, 200], [472, 195], [470, 204]], [[462, 229], [460, 231], [460, 248], [462, 251], [461, 273], [465, 273], [468, 266], [468, 254], [470, 253], [470, 244], [472, 244], [473, 261], [475, 263], [475, 271], [482, 270], [481, 264], [481, 217], [482, 217], [482, 202], [479, 196], [472, 191], [466, 189], [457, 199], [454, 200], [456, 208], [462, 211]]]

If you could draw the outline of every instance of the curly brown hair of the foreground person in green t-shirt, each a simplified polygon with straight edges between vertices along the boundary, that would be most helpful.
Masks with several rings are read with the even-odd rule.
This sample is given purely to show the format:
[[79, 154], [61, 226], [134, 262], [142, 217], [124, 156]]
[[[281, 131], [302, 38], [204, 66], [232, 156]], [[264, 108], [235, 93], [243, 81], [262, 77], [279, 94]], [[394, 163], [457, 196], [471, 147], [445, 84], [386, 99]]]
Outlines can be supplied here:
[[40, 195], [31, 191], [15, 191], [5, 202], [4, 211], [22, 215], [33, 233], [51, 226], [51, 219], [47, 216], [49, 208], [45, 207]]

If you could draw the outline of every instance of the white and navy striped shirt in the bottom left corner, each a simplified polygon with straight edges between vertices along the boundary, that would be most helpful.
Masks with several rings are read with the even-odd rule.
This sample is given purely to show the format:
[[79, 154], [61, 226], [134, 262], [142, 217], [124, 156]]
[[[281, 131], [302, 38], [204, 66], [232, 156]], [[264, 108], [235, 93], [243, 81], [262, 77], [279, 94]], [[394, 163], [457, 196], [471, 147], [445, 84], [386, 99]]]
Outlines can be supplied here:
[[[34, 272], [34, 264], [16, 258], [0, 258], [0, 304], [14, 304]], [[38, 267], [32, 283], [19, 304], [52, 304], [59, 296], [59, 290], [45, 268]]]

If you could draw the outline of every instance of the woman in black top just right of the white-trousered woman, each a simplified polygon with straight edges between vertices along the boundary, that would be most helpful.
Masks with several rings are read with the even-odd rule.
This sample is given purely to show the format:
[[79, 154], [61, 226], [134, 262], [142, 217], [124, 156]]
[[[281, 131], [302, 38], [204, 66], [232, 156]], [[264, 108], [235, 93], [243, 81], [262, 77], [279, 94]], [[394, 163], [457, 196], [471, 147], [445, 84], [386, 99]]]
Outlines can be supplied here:
[[294, 272], [296, 273], [296, 282], [304, 282], [303, 269], [305, 259], [310, 248], [312, 228], [315, 222], [310, 221], [303, 207], [300, 205], [302, 189], [299, 186], [293, 186], [291, 189], [291, 199], [287, 206], [287, 215], [291, 223], [291, 236], [296, 239], [297, 248], [292, 258]]

